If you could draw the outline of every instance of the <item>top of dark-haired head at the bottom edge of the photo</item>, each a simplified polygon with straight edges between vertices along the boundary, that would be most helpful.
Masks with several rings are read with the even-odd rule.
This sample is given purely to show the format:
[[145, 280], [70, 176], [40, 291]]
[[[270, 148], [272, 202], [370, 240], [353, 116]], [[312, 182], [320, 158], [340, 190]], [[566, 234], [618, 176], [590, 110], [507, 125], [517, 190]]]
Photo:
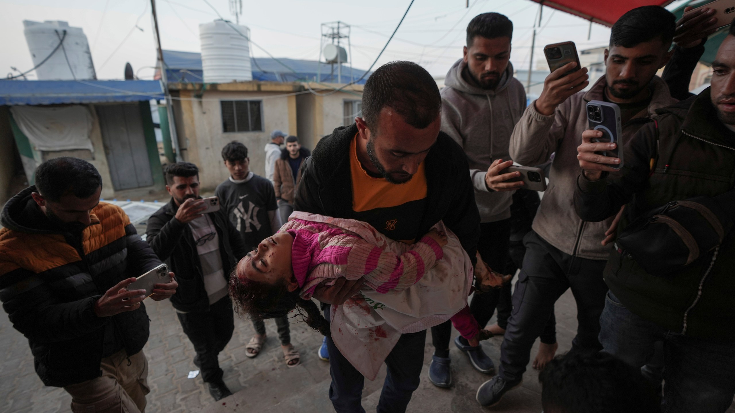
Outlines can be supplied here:
[[539, 373], [539, 381], [547, 413], [660, 412], [656, 392], [640, 369], [609, 353], [556, 356]]

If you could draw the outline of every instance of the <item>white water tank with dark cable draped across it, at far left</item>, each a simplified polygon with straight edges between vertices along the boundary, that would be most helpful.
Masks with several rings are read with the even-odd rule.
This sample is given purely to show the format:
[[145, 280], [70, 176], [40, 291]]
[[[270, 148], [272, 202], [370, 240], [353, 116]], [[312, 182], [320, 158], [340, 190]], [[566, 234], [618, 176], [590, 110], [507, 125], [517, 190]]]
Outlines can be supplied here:
[[[24, 20], [23, 25], [34, 66], [53, 53], [36, 68], [38, 80], [97, 79], [87, 36], [81, 27], [71, 27], [65, 21]], [[57, 49], [60, 38], [63, 42]]]

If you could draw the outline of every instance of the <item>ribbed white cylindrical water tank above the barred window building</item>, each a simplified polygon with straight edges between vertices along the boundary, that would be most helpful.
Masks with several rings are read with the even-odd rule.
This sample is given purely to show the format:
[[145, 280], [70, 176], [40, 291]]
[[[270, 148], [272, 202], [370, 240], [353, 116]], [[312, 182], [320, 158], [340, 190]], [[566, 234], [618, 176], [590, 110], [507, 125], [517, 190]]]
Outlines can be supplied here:
[[229, 83], [253, 80], [250, 67], [250, 29], [215, 20], [199, 25], [201, 68], [204, 82]]

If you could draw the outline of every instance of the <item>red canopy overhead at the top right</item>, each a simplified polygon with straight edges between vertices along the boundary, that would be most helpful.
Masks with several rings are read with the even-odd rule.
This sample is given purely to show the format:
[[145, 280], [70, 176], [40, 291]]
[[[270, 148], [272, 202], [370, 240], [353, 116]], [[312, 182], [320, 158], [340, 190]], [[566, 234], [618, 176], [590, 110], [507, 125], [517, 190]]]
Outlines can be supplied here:
[[531, 0], [556, 10], [612, 26], [628, 10], [641, 6], [664, 7], [673, 0]]

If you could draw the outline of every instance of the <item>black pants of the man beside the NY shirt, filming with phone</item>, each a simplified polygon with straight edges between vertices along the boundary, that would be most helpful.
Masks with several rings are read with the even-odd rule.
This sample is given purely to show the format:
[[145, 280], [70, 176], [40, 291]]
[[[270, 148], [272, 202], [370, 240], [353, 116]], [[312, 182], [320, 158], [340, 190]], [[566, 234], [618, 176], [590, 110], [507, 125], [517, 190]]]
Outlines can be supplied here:
[[224, 297], [209, 306], [207, 312], [176, 313], [184, 333], [194, 345], [201, 378], [206, 382], [222, 380], [223, 371], [217, 356], [223, 351], [234, 331], [232, 301]]

